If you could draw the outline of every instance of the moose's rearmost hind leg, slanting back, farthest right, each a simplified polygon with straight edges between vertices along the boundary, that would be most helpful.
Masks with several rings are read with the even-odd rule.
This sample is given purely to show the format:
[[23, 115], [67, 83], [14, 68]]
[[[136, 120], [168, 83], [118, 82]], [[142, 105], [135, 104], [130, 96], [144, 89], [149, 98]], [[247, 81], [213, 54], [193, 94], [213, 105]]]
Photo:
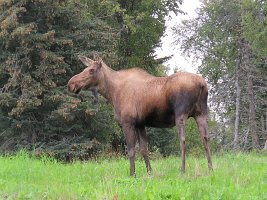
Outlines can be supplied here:
[[211, 153], [210, 153], [210, 147], [209, 147], [209, 135], [208, 135], [208, 123], [207, 123], [207, 116], [206, 115], [200, 115], [195, 117], [199, 134], [201, 136], [206, 157], [208, 159], [208, 167], [210, 170], [212, 170], [212, 161], [211, 161]]

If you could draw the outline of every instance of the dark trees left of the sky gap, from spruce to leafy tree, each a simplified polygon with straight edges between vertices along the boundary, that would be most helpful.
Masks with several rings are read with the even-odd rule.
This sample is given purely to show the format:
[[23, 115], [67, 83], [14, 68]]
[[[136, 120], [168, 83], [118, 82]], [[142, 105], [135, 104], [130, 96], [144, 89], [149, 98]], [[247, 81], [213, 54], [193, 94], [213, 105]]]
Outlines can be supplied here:
[[68, 154], [69, 159], [92, 156], [110, 145], [124, 152], [111, 106], [102, 98], [95, 103], [90, 92], [71, 95], [66, 84], [83, 68], [78, 55], [94, 53], [113, 69], [140, 66], [164, 75], [162, 63], [168, 58], [156, 59], [155, 48], [161, 45], [166, 16], [180, 13], [180, 4], [0, 0], [1, 152], [26, 148]]

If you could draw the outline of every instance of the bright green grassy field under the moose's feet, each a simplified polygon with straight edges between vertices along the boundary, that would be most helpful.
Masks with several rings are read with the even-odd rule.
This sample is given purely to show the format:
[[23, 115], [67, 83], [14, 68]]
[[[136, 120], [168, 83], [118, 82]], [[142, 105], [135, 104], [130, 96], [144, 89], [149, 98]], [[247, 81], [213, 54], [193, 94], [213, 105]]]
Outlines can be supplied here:
[[137, 177], [129, 177], [126, 158], [62, 164], [32, 159], [25, 153], [0, 157], [0, 199], [267, 199], [267, 155], [231, 153], [206, 159], [188, 157], [152, 160], [147, 175], [143, 160]]

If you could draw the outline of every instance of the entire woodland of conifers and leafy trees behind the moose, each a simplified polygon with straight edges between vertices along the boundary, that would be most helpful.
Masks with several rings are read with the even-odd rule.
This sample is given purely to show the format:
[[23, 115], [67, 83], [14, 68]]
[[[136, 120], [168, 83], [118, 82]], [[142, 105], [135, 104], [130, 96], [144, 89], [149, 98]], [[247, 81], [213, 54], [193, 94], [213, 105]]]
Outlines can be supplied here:
[[[78, 55], [101, 55], [113, 69], [133, 66], [165, 75], [155, 48], [167, 16], [182, 0], [0, 0], [0, 149], [85, 159], [124, 153], [112, 107], [89, 91], [67, 92], [83, 66]], [[201, 60], [210, 84], [213, 150], [267, 148], [267, 3], [204, 1], [198, 16], [174, 27], [176, 46]], [[150, 150], [179, 152], [175, 129], [148, 129]], [[201, 142], [193, 121], [187, 148]]]

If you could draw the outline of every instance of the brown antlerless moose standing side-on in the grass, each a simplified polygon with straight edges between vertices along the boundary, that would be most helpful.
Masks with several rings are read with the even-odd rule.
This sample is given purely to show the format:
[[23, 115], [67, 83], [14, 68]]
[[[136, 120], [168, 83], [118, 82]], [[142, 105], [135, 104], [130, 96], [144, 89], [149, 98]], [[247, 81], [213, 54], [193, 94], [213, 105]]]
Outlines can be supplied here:
[[212, 169], [207, 130], [208, 87], [204, 78], [188, 72], [155, 77], [141, 68], [115, 71], [99, 56], [93, 60], [79, 56], [79, 60], [86, 68], [69, 80], [68, 90], [78, 94], [82, 89], [93, 88], [113, 105], [115, 119], [126, 139], [130, 176], [135, 175], [137, 141], [147, 172], [152, 172], [145, 127], [168, 128], [176, 125], [181, 171], [185, 172], [185, 122], [189, 117], [197, 122], [208, 167]]

